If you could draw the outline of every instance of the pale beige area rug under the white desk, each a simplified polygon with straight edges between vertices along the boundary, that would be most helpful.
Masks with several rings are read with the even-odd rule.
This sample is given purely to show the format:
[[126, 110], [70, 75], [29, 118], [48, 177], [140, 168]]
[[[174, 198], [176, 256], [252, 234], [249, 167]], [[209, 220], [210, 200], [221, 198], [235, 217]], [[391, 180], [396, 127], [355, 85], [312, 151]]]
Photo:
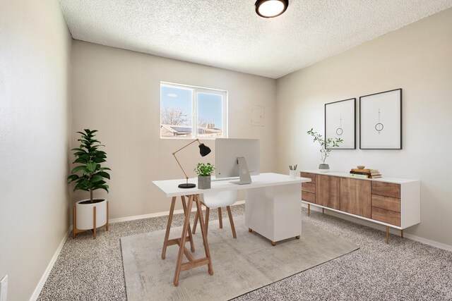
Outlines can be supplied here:
[[[177, 287], [173, 277], [179, 247], [169, 246], [162, 259], [165, 231], [121, 238], [127, 300], [229, 300], [358, 249], [310, 223], [302, 223], [301, 239], [283, 240], [274, 247], [258, 233], [249, 233], [244, 216], [235, 217], [234, 223], [237, 239], [227, 219], [222, 229], [218, 221], [209, 222], [213, 276], [207, 266], [182, 271]], [[181, 233], [182, 227], [172, 228], [169, 238]], [[194, 243], [194, 257], [204, 257], [199, 230]], [[186, 246], [190, 249], [189, 242]]]

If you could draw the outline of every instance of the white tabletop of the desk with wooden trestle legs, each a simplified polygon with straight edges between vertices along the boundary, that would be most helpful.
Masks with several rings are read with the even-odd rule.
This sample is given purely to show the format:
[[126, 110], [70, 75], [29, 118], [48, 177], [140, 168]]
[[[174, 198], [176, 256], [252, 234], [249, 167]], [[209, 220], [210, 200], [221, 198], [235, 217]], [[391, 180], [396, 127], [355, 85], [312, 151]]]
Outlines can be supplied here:
[[241, 190], [241, 189], [250, 189], [250, 188], [263, 188], [268, 186], [277, 186], [277, 185], [289, 185], [289, 184], [297, 184], [310, 182], [309, 178], [290, 178], [288, 175], [282, 175], [280, 173], [261, 173], [258, 176], [251, 176], [251, 184], [238, 185], [233, 182], [238, 182], [237, 179], [218, 179], [215, 180], [215, 177], [212, 177], [212, 182], [210, 183], [210, 189], [199, 189], [197, 187], [198, 178], [190, 178], [189, 183], [196, 183], [196, 188], [179, 188], [177, 187], [181, 183], [185, 183], [185, 179], [177, 179], [177, 180], [155, 180], [153, 181], [154, 185], [156, 185], [167, 197], [178, 197], [180, 195], [198, 195], [206, 192], [217, 192], [224, 190]]

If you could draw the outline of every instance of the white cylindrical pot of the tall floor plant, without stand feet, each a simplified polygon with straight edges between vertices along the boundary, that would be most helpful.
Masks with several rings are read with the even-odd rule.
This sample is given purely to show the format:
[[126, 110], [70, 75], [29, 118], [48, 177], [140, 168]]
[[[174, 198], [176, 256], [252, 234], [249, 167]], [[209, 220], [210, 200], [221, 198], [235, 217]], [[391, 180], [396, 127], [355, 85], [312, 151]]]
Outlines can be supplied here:
[[[98, 200], [98, 199], [97, 199]], [[88, 201], [88, 204], [81, 204]], [[96, 207], [96, 228], [107, 224], [107, 199], [100, 202], [89, 202], [90, 199], [82, 199], [76, 202], [76, 227], [78, 230], [90, 230], [94, 228], [93, 208]]]

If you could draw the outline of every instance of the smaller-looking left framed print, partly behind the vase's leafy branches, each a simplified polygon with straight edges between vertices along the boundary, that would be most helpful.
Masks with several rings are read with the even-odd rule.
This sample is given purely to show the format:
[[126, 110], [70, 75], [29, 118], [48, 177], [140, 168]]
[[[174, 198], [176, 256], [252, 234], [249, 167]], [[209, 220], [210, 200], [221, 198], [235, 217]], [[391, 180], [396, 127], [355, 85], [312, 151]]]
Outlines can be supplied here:
[[325, 139], [341, 138], [334, 149], [356, 149], [356, 98], [325, 104]]

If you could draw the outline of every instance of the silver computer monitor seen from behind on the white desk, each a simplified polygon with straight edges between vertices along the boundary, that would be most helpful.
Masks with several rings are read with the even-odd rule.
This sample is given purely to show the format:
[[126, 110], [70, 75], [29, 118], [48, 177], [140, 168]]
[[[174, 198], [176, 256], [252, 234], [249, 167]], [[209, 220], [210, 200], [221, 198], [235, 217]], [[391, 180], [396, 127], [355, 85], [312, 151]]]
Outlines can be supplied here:
[[258, 175], [261, 164], [258, 139], [215, 140], [215, 177], [239, 177], [237, 184], [251, 183], [251, 175]]

